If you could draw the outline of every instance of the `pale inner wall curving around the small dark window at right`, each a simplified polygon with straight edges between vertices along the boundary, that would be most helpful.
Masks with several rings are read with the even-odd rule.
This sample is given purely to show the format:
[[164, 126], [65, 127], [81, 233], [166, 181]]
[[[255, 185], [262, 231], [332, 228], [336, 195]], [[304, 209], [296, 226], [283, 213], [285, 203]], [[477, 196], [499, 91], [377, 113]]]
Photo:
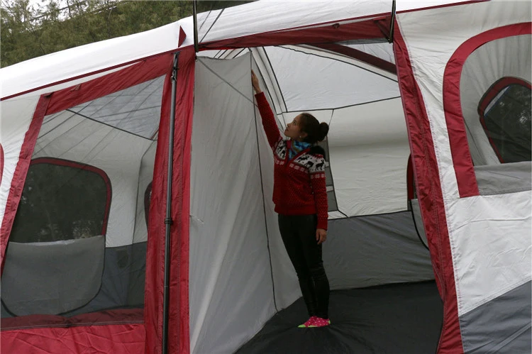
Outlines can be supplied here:
[[475, 166], [500, 163], [480, 123], [480, 99], [502, 77], [532, 82], [531, 43], [531, 35], [501, 38], [482, 45], [467, 57], [460, 78], [460, 103]]

